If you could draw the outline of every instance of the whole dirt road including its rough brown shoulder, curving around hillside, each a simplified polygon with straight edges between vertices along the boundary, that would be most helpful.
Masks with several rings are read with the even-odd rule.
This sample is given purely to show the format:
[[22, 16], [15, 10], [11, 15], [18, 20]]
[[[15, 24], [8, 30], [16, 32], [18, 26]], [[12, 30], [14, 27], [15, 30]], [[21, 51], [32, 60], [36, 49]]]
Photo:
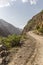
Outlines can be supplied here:
[[43, 37], [27, 33], [28, 39], [8, 65], [43, 65]]

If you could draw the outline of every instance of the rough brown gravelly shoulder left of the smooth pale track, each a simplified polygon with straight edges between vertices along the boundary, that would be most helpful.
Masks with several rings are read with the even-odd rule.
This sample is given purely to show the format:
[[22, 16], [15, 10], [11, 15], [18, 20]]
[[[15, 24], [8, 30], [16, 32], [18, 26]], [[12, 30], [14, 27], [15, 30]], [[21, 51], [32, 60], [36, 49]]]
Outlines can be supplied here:
[[24, 41], [23, 46], [18, 53], [13, 56], [12, 61], [8, 65], [27, 65], [28, 61], [28, 64], [31, 65], [36, 51], [36, 41], [28, 35], [28, 39]]

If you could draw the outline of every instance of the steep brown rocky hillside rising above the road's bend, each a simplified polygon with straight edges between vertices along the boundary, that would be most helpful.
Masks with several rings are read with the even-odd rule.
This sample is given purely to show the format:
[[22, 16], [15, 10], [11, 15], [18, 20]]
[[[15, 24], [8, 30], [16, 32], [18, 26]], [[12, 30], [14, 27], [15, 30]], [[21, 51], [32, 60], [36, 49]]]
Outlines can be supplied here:
[[43, 10], [32, 17], [24, 27], [23, 33], [26, 33], [30, 30], [36, 29], [36, 27], [43, 27]]

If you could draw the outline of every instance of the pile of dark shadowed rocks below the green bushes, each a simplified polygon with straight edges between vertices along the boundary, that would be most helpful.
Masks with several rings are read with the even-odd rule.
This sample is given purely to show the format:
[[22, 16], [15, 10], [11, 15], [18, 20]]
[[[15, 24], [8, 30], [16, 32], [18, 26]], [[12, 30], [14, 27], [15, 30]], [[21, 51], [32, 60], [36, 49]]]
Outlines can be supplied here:
[[6, 50], [6, 47], [3, 45], [0, 45], [0, 65], [7, 65], [10, 57], [10, 52]]

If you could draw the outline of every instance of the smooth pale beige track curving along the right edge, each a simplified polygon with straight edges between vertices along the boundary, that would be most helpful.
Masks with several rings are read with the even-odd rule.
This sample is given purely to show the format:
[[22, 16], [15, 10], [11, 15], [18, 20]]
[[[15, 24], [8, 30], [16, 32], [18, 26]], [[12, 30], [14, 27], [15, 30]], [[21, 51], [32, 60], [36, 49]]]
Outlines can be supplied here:
[[28, 32], [28, 34], [39, 42], [38, 52], [34, 63], [37, 65], [43, 65], [43, 36], [36, 35], [32, 31]]

